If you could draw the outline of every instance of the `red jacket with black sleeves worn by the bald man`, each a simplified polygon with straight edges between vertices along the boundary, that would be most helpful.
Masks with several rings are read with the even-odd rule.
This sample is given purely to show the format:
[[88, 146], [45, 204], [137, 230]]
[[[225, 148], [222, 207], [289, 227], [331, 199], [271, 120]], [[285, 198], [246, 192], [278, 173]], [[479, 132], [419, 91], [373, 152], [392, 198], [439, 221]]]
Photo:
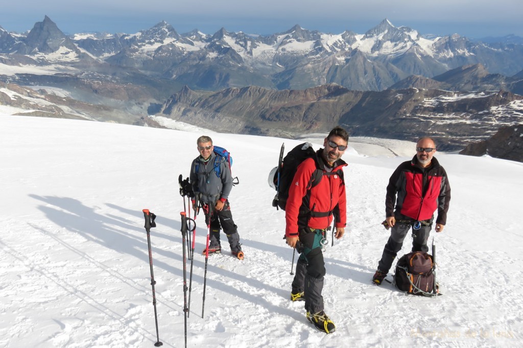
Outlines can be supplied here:
[[422, 221], [431, 219], [437, 210], [436, 223], [445, 225], [449, 201], [450, 185], [445, 169], [434, 157], [428, 167], [422, 168], [414, 156], [412, 161], [403, 162], [392, 173], [387, 186], [385, 214], [396, 219], [403, 215]]

